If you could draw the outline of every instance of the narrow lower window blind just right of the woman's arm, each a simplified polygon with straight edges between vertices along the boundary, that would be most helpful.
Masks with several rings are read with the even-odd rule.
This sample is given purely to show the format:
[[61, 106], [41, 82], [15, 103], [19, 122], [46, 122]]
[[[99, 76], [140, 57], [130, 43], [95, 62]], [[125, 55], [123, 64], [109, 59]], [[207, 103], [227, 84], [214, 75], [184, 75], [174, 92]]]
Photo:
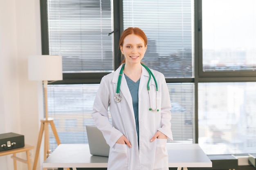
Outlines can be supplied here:
[[168, 83], [173, 142], [193, 143], [194, 84]]

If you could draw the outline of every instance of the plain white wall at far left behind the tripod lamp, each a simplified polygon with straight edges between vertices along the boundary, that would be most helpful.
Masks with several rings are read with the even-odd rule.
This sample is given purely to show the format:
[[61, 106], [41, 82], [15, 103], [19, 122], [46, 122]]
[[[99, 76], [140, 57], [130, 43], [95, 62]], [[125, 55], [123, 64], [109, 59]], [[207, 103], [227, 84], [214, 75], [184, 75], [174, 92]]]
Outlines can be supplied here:
[[[40, 0], [0, 0], [0, 134], [25, 135], [25, 143], [35, 148], [43, 94], [41, 82], [27, 78], [27, 57], [41, 54], [40, 36]], [[34, 162], [35, 149], [31, 154]], [[42, 158], [38, 170], [41, 165]], [[27, 165], [18, 163], [18, 169]], [[10, 155], [0, 157], [0, 170], [13, 170]]]

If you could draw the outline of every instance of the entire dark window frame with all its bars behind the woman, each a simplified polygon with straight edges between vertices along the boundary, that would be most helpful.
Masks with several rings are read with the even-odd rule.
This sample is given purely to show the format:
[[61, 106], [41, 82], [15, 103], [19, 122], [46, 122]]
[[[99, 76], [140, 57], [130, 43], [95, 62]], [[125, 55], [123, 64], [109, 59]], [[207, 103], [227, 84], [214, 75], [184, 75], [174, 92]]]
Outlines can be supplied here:
[[[48, 24], [47, 24], [47, 1], [40, 0], [41, 13], [41, 37], [42, 54], [49, 55], [48, 44]], [[118, 68], [121, 58], [119, 54], [119, 38], [123, 30], [123, 10], [122, 1], [113, 0], [114, 11], [114, 55], [115, 70]], [[202, 0], [194, 0], [194, 28], [192, 25], [192, 53], [194, 64], [193, 78], [166, 78], [167, 83], [194, 83], [194, 121], [193, 121], [193, 141], [198, 144], [198, 83], [200, 82], [256, 82], [256, 71], [207, 71], [202, 69]], [[105, 73], [63, 73], [63, 80], [51, 82], [49, 84], [98, 84]]]

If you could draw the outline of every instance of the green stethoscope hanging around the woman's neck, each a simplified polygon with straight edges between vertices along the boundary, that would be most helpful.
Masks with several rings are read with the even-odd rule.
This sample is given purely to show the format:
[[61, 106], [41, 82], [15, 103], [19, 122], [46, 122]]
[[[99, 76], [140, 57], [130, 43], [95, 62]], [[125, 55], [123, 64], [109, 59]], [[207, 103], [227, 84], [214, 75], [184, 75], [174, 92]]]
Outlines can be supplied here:
[[[121, 99], [122, 99], [121, 96], [120, 96], [120, 85], [121, 85], [121, 78], [122, 78], [123, 71], [124, 71], [124, 65], [125, 65], [125, 63], [123, 64], [123, 66], [122, 66], [122, 68], [121, 68], [121, 70], [120, 70], [120, 72], [119, 72], [119, 76], [118, 76], [118, 80], [117, 80], [117, 91], [116, 91], [116, 95], [115, 95], [115, 97], [114, 97], [114, 99], [115, 99], [116, 102], [120, 102]], [[153, 109], [153, 108], [151, 107], [150, 94], [149, 94], [149, 90], [150, 90], [149, 82], [150, 82], [150, 79], [151, 79], [151, 75], [152, 75], [152, 77], [153, 77], [153, 79], [154, 79], [154, 81], [155, 81], [155, 88], [156, 88], [156, 91], [155, 91], [155, 93], [156, 93], [156, 104], [157, 104], [157, 91], [158, 91], [157, 81], [156, 81], [155, 76], [153, 75], [153, 73], [150, 71], [150, 69], [149, 69], [147, 66], [145, 66], [144, 64], [142, 64], [142, 63], [141, 63], [141, 65], [144, 66], [144, 68], [146, 68], [146, 70], [148, 71], [148, 74], [149, 74], [148, 85], [147, 85], [148, 97], [149, 97], [149, 105], [150, 105], [149, 110], [153, 110], [153, 111], [157, 111], [157, 112], [158, 112], [159, 109], [157, 109], [157, 106], [156, 106], [155, 109]]]

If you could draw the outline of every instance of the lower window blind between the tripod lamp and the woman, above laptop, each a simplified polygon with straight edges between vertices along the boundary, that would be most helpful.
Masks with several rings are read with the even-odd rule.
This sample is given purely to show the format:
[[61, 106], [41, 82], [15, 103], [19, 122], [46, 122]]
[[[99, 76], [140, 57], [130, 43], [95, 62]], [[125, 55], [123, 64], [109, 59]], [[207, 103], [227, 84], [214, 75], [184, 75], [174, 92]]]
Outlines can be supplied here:
[[[54, 124], [62, 144], [88, 143], [85, 125], [94, 125], [92, 106], [99, 84], [48, 85], [48, 115]], [[57, 147], [50, 131], [51, 150]]]

